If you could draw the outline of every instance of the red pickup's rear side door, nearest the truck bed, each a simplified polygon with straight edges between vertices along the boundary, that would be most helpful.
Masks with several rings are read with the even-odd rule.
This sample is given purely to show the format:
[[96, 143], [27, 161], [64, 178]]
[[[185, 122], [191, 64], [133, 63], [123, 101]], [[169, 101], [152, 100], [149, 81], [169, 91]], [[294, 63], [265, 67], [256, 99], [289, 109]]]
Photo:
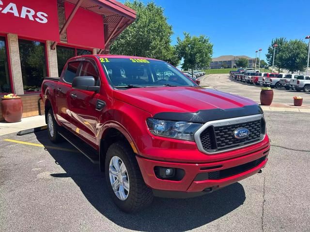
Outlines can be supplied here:
[[71, 83], [79, 72], [80, 61], [68, 62], [56, 87], [57, 118], [62, 125], [72, 128], [70, 112]]

